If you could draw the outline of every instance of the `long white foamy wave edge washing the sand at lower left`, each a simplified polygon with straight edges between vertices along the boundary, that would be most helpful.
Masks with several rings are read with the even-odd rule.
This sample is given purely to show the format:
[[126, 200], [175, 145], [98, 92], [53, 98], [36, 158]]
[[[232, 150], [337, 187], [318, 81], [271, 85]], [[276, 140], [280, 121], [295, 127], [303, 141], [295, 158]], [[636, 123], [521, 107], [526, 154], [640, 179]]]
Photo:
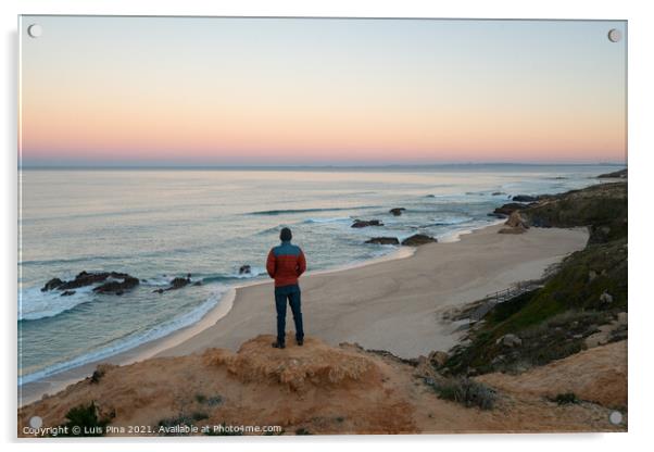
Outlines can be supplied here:
[[117, 353], [124, 352], [135, 347], [141, 346], [142, 343], [150, 342], [152, 340], [161, 339], [178, 329], [190, 326], [198, 323], [209, 311], [215, 307], [227, 288], [224, 287], [222, 290], [214, 292], [206, 301], [193, 309], [192, 311], [163, 324], [155, 326], [154, 328], [142, 332], [140, 335], [128, 337], [124, 340], [117, 340], [114, 344], [102, 348], [100, 350], [85, 353], [73, 360], [58, 363], [52, 366], [46, 367], [42, 371], [35, 372], [33, 374], [18, 376], [18, 386], [40, 380], [54, 374], [59, 374], [71, 368], [75, 368], [93, 361], [104, 360], [109, 356], [113, 356]]

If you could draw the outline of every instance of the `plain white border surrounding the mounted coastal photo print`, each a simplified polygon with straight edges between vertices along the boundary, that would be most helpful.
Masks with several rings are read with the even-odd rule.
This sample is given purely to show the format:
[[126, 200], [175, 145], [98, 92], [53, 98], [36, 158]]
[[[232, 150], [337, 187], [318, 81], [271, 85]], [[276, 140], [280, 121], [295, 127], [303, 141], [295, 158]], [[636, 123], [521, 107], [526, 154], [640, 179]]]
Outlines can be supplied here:
[[[496, 435], [496, 436], [441, 436], [441, 437], [322, 437], [322, 438], [274, 438], [244, 441], [243, 438], [224, 438], [219, 441], [192, 441], [193, 449], [212, 450], [239, 447], [254, 450], [265, 447], [273, 450], [307, 449], [332, 450], [334, 448], [362, 448], [370, 445], [378, 451], [395, 451], [403, 443], [416, 449], [450, 448], [486, 451], [521, 450], [551, 451], [553, 448], [592, 448], [593, 450], [644, 449], [647, 443], [649, 420], [652, 400], [652, 338], [647, 337], [649, 323], [653, 318], [654, 300], [649, 285], [652, 268], [652, 215], [647, 214], [652, 201], [652, 140], [651, 111], [654, 99], [652, 83], [654, 72], [651, 58], [654, 26], [647, 14], [645, 1], [388, 1], [388, 0], [4, 0], [0, 2], [2, 32], [4, 37], [2, 88], [4, 108], [1, 111], [2, 137], [2, 260], [0, 267], [3, 315], [2, 328], [5, 366], [2, 372], [3, 400], [0, 428], [4, 441], [17, 444], [15, 437], [15, 382], [16, 382], [16, 24], [17, 14], [143, 14], [143, 15], [277, 15], [277, 16], [376, 16], [376, 17], [495, 17], [495, 18], [607, 18], [629, 21], [629, 179], [630, 179], [630, 322], [629, 322], [629, 434], [616, 435]], [[650, 115], [647, 115], [650, 113]], [[647, 259], [650, 258], [650, 259]], [[647, 353], [649, 352], [649, 353]], [[292, 440], [292, 441], [291, 441]], [[190, 441], [183, 441], [189, 443]], [[216, 442], [219, 442], [217, 444]], [[38, 450], [111, 450], [123, 448], [126, 440], [75, 443], [37, 442], [27, 443], [28, 449]], [[158, 450], [175, 450], [175, 441], [139, 441], [139, 449], [156, 447]], [[22, 444], [24, 449], [25, 444]], [[153, 449], [153, 448], [152, 448]], [[567, 448], [566, 448], [567, 449]]]

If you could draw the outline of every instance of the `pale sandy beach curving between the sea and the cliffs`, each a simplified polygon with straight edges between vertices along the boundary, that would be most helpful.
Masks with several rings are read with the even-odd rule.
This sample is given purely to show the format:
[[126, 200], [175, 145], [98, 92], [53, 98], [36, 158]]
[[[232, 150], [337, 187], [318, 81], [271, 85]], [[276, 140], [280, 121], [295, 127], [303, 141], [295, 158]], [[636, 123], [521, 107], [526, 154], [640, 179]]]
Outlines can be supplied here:
[[[500, 228], [489, 226], [463, 235], [458, 241], [426, 244], [405, 259], [304, 276], [301, 287], [306, 335], [331, 346], [356, 342], [402, 357], [448, 350], [457, 342], [458, 334], [457, 325], [440, 321], [444, 310], [479, 300], [514, 282], [538, 278], [549, 265], [583, 249], [588, 239], [586, 228], [531, 228], [523, 235], [498, 234]], [[238, 288], [200, 323], [102, 362], [128, 364], [207, 348], [236, 351], [248, 339], [275, 331], [272, 292], [272, 281]], [[292, 329], [289, 311], [287, 330]], [[24, 385], [20, 388], [20, 404], [90, 375], [97, 364]]]

